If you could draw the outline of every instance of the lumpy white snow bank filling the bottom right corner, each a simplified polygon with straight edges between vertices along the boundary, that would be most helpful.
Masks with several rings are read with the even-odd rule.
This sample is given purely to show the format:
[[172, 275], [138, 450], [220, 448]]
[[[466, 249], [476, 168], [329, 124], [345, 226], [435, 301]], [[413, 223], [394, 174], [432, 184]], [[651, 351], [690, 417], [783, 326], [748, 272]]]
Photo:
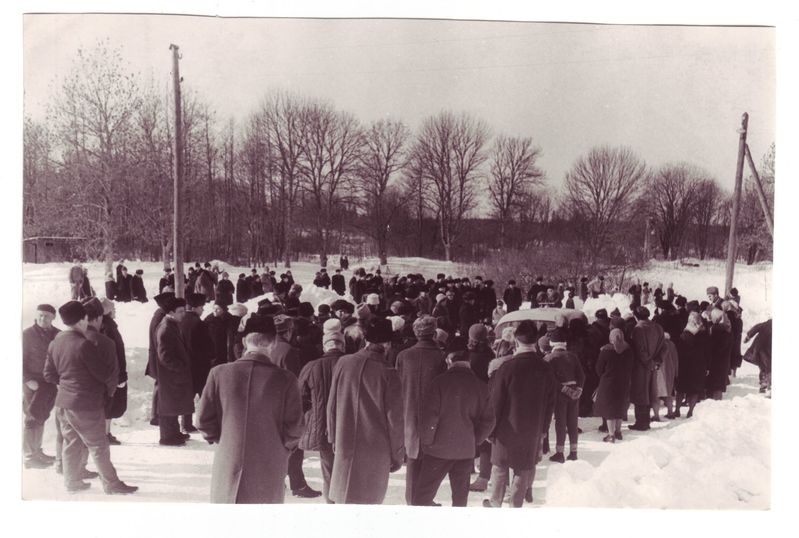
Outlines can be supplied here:
[[702, 402], [678, 427], [610, 445], [597, 467], [550, 465], [547, 504], [768, 509], [770, 424], [771, 400], [761, 395]]

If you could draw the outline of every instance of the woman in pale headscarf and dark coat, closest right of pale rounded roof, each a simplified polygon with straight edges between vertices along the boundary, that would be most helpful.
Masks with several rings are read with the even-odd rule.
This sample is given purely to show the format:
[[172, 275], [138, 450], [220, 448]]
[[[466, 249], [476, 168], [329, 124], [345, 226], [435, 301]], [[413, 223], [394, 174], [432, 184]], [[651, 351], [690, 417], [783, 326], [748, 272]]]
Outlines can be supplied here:
[[633, 352], [624, 340], [620, 329], [613, 329], [608, 343], [599, 350], [596, 373], [599, 386], [594, 402], [594, 416], [607, 422], [607, 432], [602, 440], [615, 443], [621, 440], [621, 422], [627, 420], [630, 407], [630, 374], [633, 368]]

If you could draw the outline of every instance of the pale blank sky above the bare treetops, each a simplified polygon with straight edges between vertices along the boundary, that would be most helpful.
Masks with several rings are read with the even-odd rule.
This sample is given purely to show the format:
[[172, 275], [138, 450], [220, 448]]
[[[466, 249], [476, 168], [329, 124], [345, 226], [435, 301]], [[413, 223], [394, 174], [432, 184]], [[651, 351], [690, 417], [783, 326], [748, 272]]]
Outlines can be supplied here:
[[465, 110], [531, 136], [552, 185], [608, 143], [654, 166], [696, 164], [731, 189], [741, 114], [756, 162], [775, 139], [773, 28], [28, 15], [23, 35], [24, 103], [38, 118], [76, 50], [108, 38], [159, 80], [178, 44], [184, 84], [220, 118], [244, 118], [270, 88], [412, 129]]

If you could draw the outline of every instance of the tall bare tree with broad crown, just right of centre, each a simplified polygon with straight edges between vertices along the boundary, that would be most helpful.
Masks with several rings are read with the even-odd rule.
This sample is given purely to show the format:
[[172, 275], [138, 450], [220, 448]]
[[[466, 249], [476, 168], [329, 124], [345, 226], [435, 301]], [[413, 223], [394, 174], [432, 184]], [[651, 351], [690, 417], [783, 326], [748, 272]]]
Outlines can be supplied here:
[[464, 217], [476, 206], [474, 184], [486, 160], [488, 138], [484, 121], [442, 112], [422, 123], [414, 145], [413, 159], [421, 180], [429, 182], [429, 204], [438, 219], [447, 261], [452, 261], [452, 246], [463, 231]]

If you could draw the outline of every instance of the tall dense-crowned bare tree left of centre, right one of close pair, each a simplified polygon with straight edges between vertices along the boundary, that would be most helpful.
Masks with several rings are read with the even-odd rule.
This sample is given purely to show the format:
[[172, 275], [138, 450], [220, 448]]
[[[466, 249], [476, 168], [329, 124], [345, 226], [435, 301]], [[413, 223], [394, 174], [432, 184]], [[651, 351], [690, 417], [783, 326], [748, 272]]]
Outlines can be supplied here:
[[327, 267], [330, 232], [344, 196], [343, 184], [352, 179], [357, 164], [361, 130], [351, 114], [328, 104], [308, 103], [302, 133], [300, 173], [314, 205], [319, 260]]

